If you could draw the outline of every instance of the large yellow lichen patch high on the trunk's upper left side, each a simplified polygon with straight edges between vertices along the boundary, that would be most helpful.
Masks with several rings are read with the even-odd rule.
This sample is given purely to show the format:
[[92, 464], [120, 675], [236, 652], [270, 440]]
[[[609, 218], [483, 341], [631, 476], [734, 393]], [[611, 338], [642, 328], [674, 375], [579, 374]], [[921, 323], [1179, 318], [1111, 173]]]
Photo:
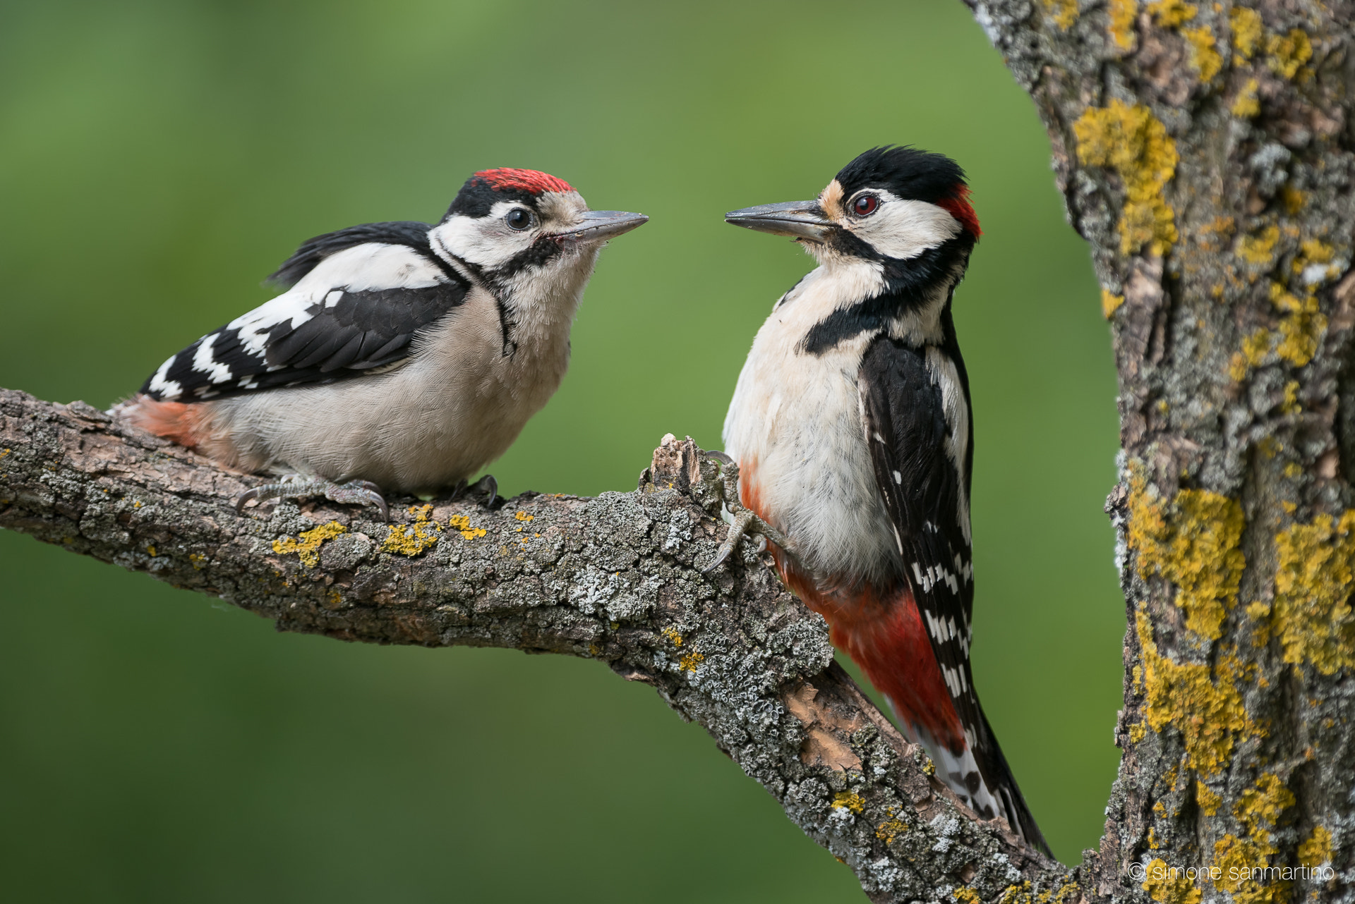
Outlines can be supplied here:
[[1111, 100], [1108, 107], [1088, 108], [1073, 123], [1073, 133], [1077, 158], [1114, 169], [1125, 185], [1121, 253], [1133, 254], [1146, 245], [1150, 253], [1165, 254], [1176, 241], [1176, 215], [1163, 192], [1176, 175], [1177, 154], [1163, 123], [1148, 107]]

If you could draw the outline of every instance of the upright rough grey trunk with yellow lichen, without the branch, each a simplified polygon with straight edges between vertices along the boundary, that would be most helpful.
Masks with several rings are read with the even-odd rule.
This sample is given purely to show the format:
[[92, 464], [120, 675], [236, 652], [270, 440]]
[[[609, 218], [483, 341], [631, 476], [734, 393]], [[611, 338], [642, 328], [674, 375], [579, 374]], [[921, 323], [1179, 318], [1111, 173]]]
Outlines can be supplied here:
[[966, 3], [1049, 131], [1119, 371], [1125, 752], [1083, 893], [1351, 900], [1352, 4]]

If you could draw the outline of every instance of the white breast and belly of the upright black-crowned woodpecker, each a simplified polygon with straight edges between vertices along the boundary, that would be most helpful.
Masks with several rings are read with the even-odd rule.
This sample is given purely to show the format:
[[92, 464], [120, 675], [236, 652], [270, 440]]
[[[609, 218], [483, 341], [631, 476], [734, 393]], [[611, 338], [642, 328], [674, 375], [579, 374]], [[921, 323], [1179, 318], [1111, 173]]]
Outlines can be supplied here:
[[862, 296], [869, 276], [820, 268], [791, 290], [757, 332], [725, 418], [725, 451], [745, 491], [824, 578], [883, 581], [901, 567], [856, 390], [871, 337], [824, 355], [797, 351], [814, 323]]

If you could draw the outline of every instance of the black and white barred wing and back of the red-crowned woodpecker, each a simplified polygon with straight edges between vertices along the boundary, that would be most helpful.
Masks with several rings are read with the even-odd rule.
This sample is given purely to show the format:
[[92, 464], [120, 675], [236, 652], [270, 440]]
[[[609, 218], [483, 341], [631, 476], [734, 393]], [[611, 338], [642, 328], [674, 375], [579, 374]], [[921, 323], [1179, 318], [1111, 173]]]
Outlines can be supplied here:
[[310, 240], [274, 275], [291, 288], [171, 357], [141, 391], [194, 402], [400, 365], [470, 288], [432, 254], [427, 230], [369, 223]]

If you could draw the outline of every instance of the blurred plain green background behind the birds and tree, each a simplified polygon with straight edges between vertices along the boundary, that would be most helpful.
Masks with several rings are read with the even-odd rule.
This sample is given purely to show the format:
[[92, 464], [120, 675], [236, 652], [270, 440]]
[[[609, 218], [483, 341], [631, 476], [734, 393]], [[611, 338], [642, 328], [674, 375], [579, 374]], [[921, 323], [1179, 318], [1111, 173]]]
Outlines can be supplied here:
[[[1115, 383], [1035, 111], [958, 0], [0, 5], [0, 386], [107, 406], [302, 240], [530, 166], [653, 219], [603, 253], [509, 494], [720, 447], [810, 261], [721, 214], [913, 142], [969, 171], [974, 671], [1054, 851], [1114, 778]], [[350, 646], [0, 533], [0, 876], [43, 901], [862, 900], [595, 662]]]

